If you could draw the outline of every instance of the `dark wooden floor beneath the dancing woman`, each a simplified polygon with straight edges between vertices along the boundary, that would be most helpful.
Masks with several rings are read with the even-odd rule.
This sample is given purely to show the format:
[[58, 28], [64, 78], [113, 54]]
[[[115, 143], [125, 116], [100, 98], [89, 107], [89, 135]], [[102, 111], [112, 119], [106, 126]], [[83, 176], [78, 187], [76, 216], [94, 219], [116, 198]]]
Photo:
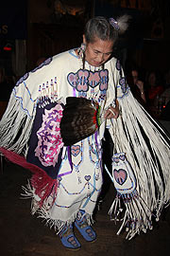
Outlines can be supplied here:
[[102, 209], [95, 214], [93, 228], [97, 233], [94, 243], [87, 243], [76, 231], [81, 243], [77, 251], [62, 247], [53, 229], [44, 226], [41, 219], [30, 214], [30, 200], [21, 199], [22, 185], [29, 173], [20, 167], [5, 163], [0, 174], [0, 255], [2, 256], [166, 256], [170, 245], [170, 210], [146, 234], [131, 241], [126, 233], [116, 235], [117, 226], [107, 214], [113, 199], [113, 189], [106, 194]]

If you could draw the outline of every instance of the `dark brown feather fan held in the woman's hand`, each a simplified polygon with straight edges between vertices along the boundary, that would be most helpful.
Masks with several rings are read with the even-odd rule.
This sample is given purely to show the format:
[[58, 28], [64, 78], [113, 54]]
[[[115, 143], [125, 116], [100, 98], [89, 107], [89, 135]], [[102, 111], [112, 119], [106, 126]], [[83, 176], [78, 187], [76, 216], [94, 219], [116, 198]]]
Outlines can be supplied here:
[[64, 146], [70, 146], [95, 133], [101, 124], [100, 106], [96, 101], [68, 97], [60, 121]]

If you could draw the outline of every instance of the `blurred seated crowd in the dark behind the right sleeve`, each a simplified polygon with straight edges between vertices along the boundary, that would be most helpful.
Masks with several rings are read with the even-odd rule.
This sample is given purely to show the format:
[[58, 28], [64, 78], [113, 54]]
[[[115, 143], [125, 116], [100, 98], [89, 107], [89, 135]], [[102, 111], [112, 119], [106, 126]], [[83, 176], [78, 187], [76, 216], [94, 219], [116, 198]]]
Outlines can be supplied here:
[[144, 70], [137, 64], [126, 69], [127, 84], [133, 96], [156, 119], [170, 120], [170, 69]]

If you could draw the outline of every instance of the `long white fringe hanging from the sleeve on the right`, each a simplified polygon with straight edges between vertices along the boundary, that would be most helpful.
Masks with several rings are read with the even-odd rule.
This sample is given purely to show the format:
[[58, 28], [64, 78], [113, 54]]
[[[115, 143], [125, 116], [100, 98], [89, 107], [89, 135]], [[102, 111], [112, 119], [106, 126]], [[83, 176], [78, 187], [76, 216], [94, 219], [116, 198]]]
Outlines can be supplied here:
[[[125, 152], [136, 176], [136, 195], [124, 198], [126, 213], [123, 227], [131, 239], [141, 230], [151, 229], [151, 218], [159, 220], [161, 210], [170, 201], [170, 138], [131, 93], [119, 101], [122, 117], [112, 121], [110, 135], [115, 152]], [[114, 200], [110, 213], [120, 211]]]

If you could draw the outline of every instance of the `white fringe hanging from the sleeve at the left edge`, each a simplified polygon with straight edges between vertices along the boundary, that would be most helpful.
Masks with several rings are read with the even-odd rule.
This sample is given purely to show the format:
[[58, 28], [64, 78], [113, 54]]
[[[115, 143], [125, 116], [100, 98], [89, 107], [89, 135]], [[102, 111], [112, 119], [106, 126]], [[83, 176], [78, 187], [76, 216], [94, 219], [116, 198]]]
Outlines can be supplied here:
[[0, 146], [26, 155], [33, 120], [21, 108], [21, 102], [11, 94], [8, 108], [0, 122]]

